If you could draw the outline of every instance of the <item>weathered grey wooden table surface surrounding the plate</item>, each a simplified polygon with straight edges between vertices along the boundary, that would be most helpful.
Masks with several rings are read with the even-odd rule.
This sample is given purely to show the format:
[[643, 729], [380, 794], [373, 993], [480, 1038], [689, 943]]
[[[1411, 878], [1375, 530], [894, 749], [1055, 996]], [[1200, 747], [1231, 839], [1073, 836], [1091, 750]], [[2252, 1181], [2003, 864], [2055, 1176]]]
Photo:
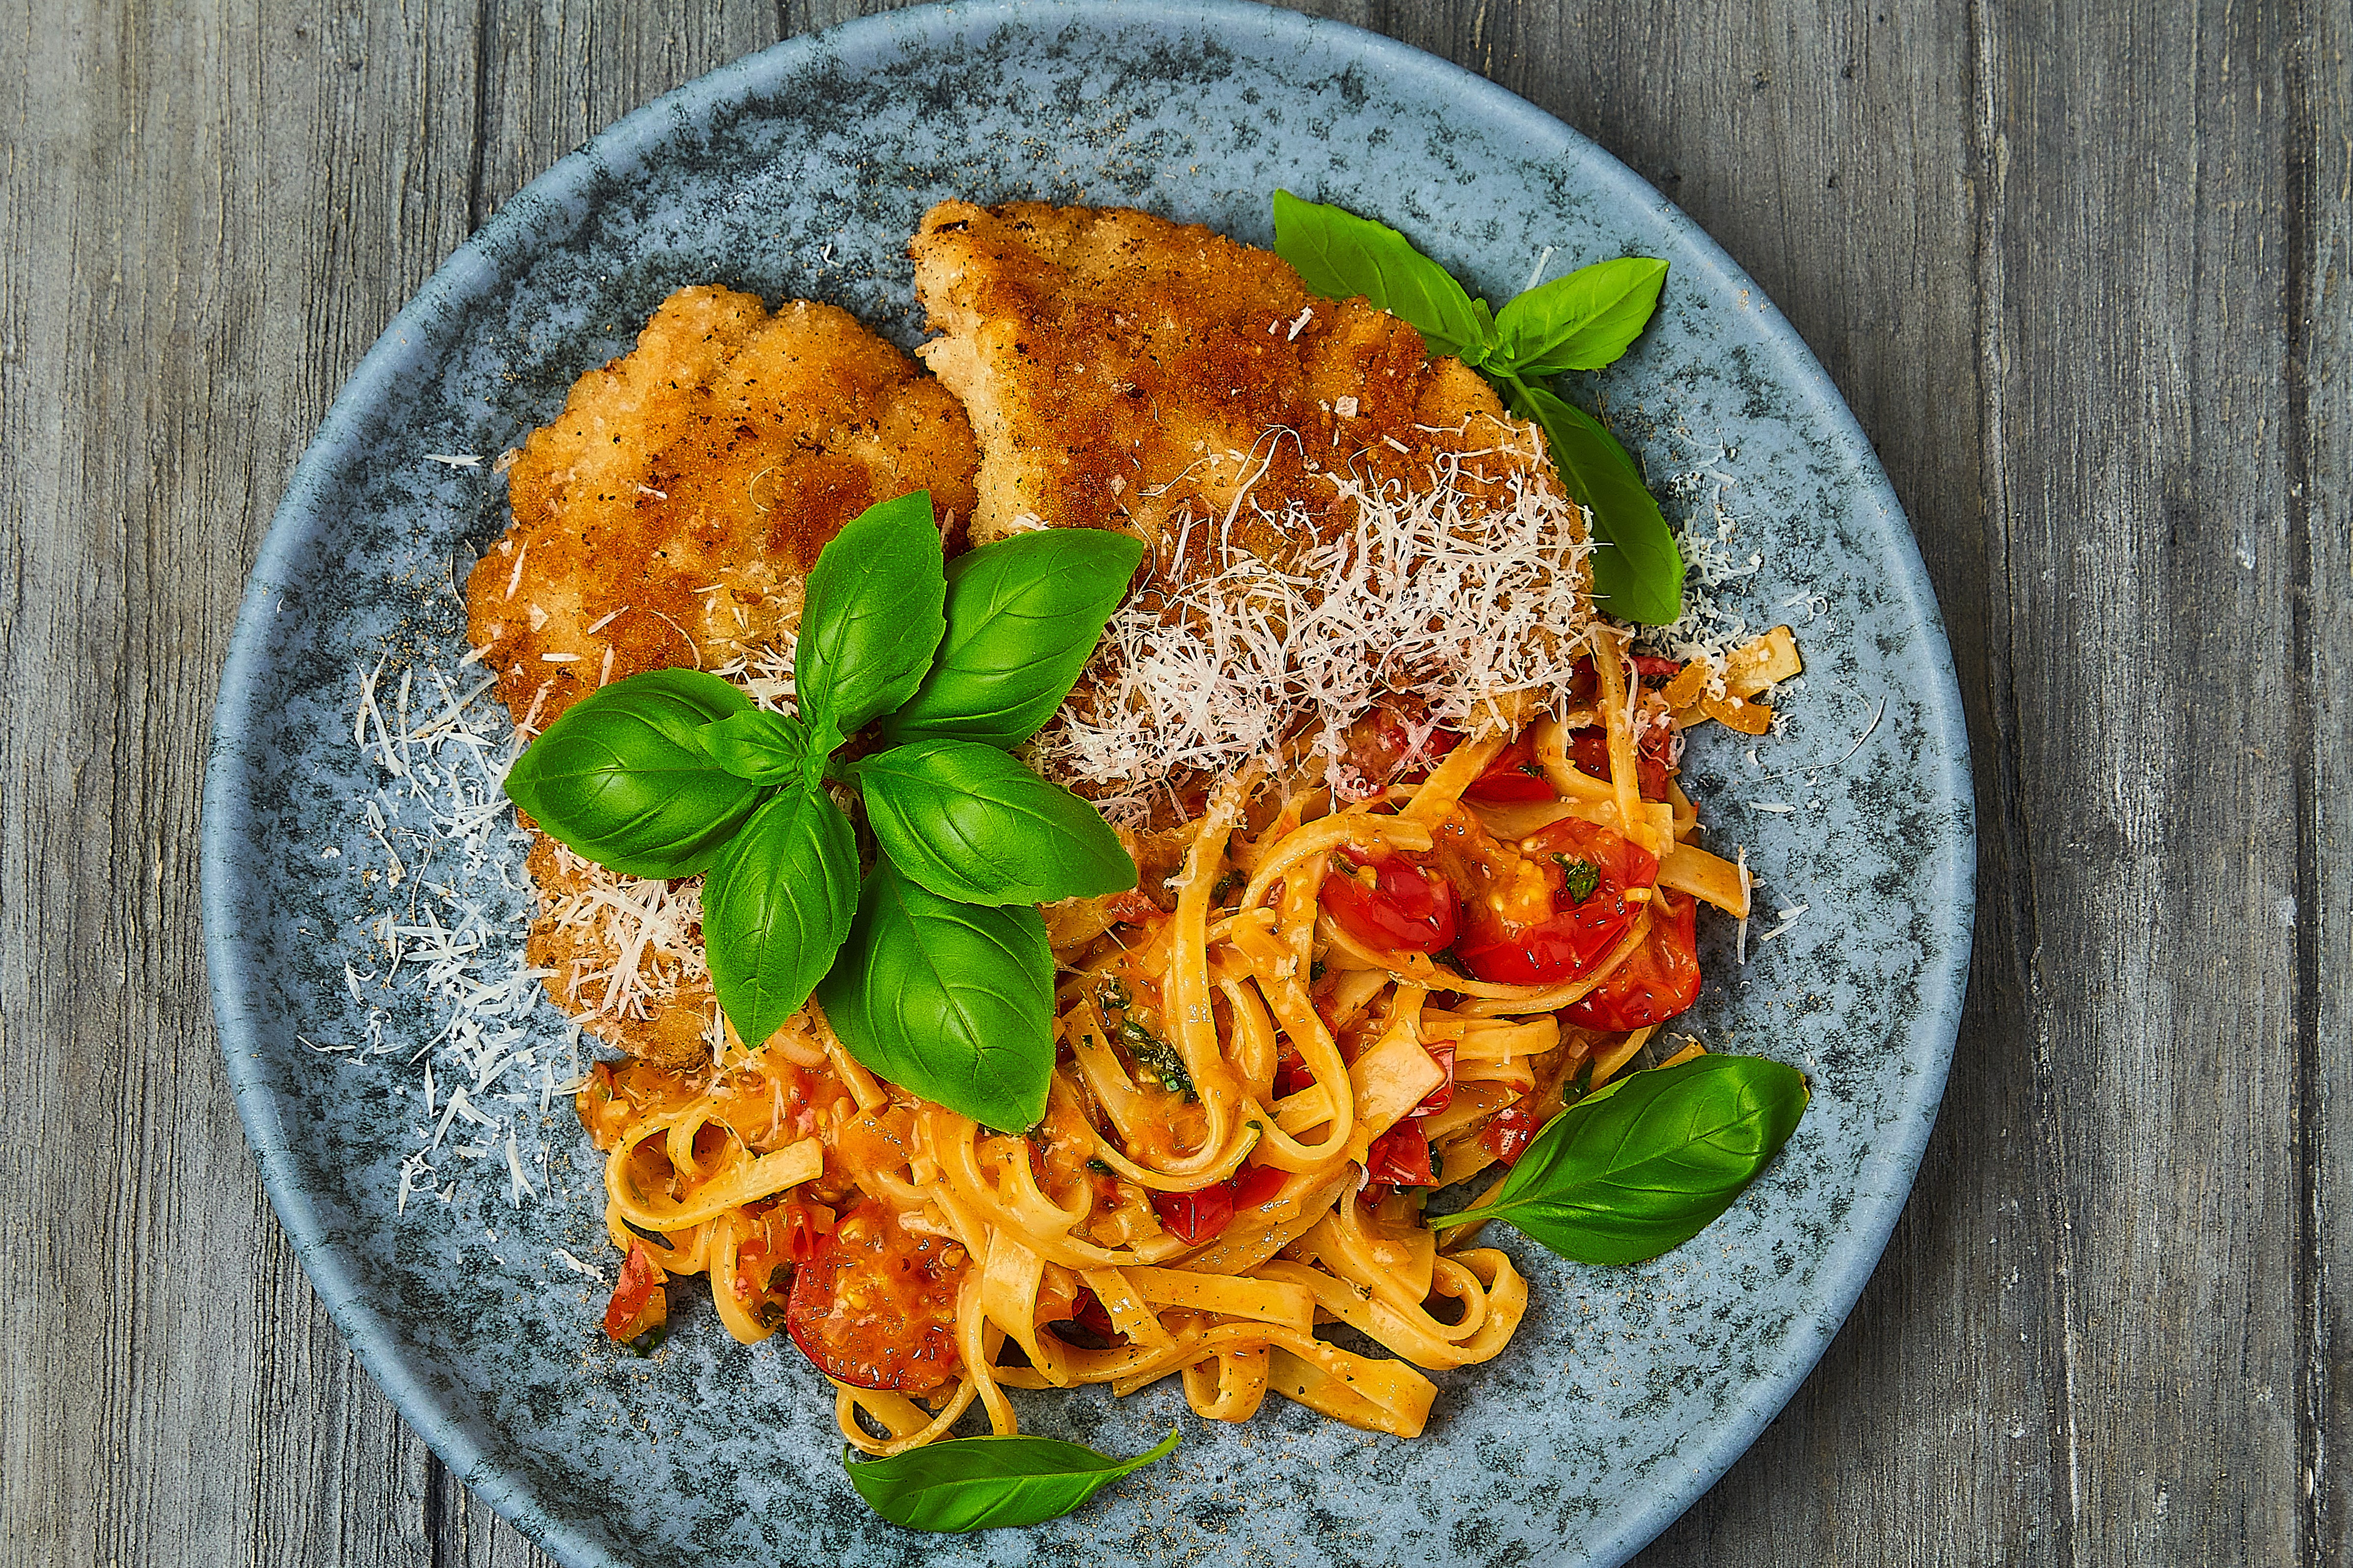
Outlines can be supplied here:
[[[852, 0], [0, 21], [0, 1556], [536, 1563], [327, 1324], [200, 954], [214, 684], [400, 303]], [[1598, 139], [1878, 444], [1969, 712], [1944, 1114], [1788, 1410], [1638, 1561], [2337, 1563], [2353, 1490], [2344, 0], [1332, 0]]]

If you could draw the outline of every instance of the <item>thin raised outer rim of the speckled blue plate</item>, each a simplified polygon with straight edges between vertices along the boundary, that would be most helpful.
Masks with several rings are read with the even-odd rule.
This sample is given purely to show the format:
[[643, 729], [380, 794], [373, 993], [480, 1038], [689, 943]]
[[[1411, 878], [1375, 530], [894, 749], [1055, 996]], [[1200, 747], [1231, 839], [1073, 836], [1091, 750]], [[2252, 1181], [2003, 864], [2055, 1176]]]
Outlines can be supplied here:
[[[1887, 517], [1887, 555], [1899, 567], [1897, 581], [1889, 581], [1887, 588], [1901, 597], [1913, 623], [1925, 632], [1920, 656], [1934, 677], [1934, 689], [1915, 693], [1922, 703], [1922, 722], [1939, 743], [1934, 762], [1927, 769], [1927, 783], [1941, 799], [1958, 806], [1962, 816], [1953, 844], [1934, 860], [1932, 884], [1920, 889], [1925, 907], [1946, 910], [1953, 919], [1951, 943], [1920, 973], [1920, 1030], [1915, 1032], [1915, 1048], [1918, 1041], [1925, 1041], [1934, 1048], [1934, 1060], [1922, 1060], [1922, 1072], [1908, 1079], [1911, 1100], [1899, 1107], [1908, 1114], [1897, 1121], [1901, 1133], [1875, 1145], [1859, 1171], [1857, 1201], [1847, 1213], [1845, 1237], [1821, 1276], [1821, 1312], [1807, 1328], [1793, 1333], [1784, 1342], [1777, 1363], [1746, 1382], [1722, 1418], [1706, 1434], [1697, 1436], [1694, 1450], [1680, 1455], [1687, 1465], [1675, 1476], [1661, 1479], [1649, 1493], [1647, 1505], [1626, 1512], [1612, 1530], [1593, 1542], [1586, 1563], [1593, 1568], [1614, 1568], [1697, 1502], [1748, 1450], [1765, 1429], [1765, 1422], [1788, 1403], [1798, 1385], [1812, 1373], [1868, 1284], [1871, 1272], [1878, 1267], [1934, 1128], [1934, 1110], [1944, 1095], [1969, 969], [1969, 914], [1977, 898], [1977, 830], [1960, 689], [1937, 597], [1920, 562], [1918, 541], [1904, 522], [1904, 508], [1889, 489], [1868, 437], [1854, 423], [1854, 414], [1840, 400], [1812, 350], [1798, 339], [1786, 317], [1762, 306], [1762, 289], [1692, 219], [1591, 139], [1525, 99], [1421, 49], [1339, 21], [1299, 16], [1240, 0], [960, 0], [955, 5], [885, 12], [824, 33], [781, 40], [769, 49], [687, 82], [614, 122], [584, 148], [555, 162], [522, 195], [560, 197], [591, 183], [602, 169], [642, 162], [649, 153], [659, 153], [678, 134], [680, 125], [699, 120], [713, 106], [758, 94], [819, 54], [838, 54], [845, 61], [875, 59], [892, 49], [920, 47], [951, 28], [960, 33], [988, 19], [1019, 21], [1035, 16], [1078, 24], [1089, 19], [1115, 19], [1122, 24], [1160, 19], [1198, 24], [1207, 31], [1233, 28], [1245, 21], [1252, 28], [1297, 28], [1301, 38], [1355, 52], [1372, 73], [1393, 82], [1414, 80], [1424, 92], [1475, 101], [1492, 125], [1520, 127], [1534, 141], [1565, 141], [1581, 158], [1581, 176], [1614, 186], [1612, 195], [1619, 200], [1654, 212], [1689, 247], [1692, 256], [1711, 273], [1704, 277], [1708, 292], [1744, 294], [1758, 303], [1753, 327], [1762, 346], [1779, 357], [1777, 369], [1784, 386], [1805, 397], [1807, 416], [1821, 421], [1840, 456], [1847, 458], [1852, 473]], [[268, 623], [275, 585], [287, 581], [292, 562], [306, 555], [322, 531], [332, 529], [329, 484], [336, 458], [365, 440], [372, 409], [391, 397], [412, 369], [431, 360], [435, 317], [456, 301], [499, 287], [504, 282], [499, 254], [527, 249], [541, 237], [534, 214], [560, 214], [560, 200], [529, 202], [518, 197], [475, 230], [426, 280], [409, 306], [376, 339], [367, 357], [360, 360], [320, 423], [318, 437], [296, 463], [285, 501], [256, 555], [221, 672], [200, 825], [200, 905], [214, 1020], [238, 1117], [261, 1166], [261, 1182], [271, 1197], [271, 1206], [278, 1211], [278, 1220], [292, 1239], [329, 1319], [393, 1401], [393, 1408], [400, 1410], [402, 1420], [424, 1436], [433, 1453], [478, 1497], [489, 1502], [555, 1559], [574, 1568], [626, 1568], [621, 1559], [609, 1556], [600, 1544], [586, 1540], [572, 1523], [539, 1507], [527, 1476], [501, 1465], [468, 1432], [466, 1422], [452, 1408], [452, 1399], [433, 1389], [402, 1359], [391, 1319], [362, 1293], [360, 1260], [334, 1241], [313, 1194], [294, 1180], [280, 1105], [264, 1074], [249, 1067], [256, 1060], [252, 1046], [259, 1044], [254, 1032], [259, 976], [249, 966], [249, 954], [240, 943], [233, 919], [238, 860], [252, 844], [252, 809], [240, 792], [242, 766], [238, 762], [238, 738], [252, 726], [252, 703], [259, 689], [256, 675], [271, 658]], [[1685, 275], [1689, 275], [1689, 263], [1682, 266]]]

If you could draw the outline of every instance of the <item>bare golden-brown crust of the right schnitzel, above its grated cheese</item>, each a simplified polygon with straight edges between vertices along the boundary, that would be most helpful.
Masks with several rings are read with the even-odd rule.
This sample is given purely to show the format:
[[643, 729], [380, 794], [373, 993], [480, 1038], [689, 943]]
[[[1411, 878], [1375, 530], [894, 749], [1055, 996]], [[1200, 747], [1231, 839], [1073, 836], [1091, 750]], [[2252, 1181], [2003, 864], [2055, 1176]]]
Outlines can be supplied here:
[[1327, 531], [1344, 508], [1318, 473], [1426, 484], [1435, 454], [1494, 447], [1504, 418], [1398, 317], [1318, 299], [1273, 252], [1193, 223], [941, 202], [911, 249], [946, 334], [915, 353], [981, 444], [972, 543], [1035, 517], [1160, 550], [1174, 520], [1226, 517], [1247, 482], [1233, 543], [1282, 564], [1299, 541], [1259, 508], [1299, 503]]

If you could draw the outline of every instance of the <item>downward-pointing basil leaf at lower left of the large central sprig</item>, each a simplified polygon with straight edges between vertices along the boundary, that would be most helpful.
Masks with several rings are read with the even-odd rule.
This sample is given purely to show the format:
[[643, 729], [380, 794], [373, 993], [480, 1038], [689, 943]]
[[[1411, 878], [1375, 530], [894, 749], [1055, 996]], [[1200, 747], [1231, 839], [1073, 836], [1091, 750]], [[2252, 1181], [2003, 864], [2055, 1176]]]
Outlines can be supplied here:
[[824, 785], [802, 778], [753, 811], [704, 879], [711, 987], [758, 1051], [833, 966], [859, 907], [859, 844]]

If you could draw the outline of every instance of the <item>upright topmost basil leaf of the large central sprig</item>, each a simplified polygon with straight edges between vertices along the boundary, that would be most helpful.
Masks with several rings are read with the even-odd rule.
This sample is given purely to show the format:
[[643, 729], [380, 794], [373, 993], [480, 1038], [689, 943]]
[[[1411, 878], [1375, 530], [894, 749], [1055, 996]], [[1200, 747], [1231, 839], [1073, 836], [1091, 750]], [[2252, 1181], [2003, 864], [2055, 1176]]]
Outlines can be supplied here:
[[816, 552], [800, 611], [793, 684], [809, 726], [821, 736], [826, 729], [849, 736], [915, 696], [948, 628], [946, 592], [932, 491], [918, 489], [852, 517]]

